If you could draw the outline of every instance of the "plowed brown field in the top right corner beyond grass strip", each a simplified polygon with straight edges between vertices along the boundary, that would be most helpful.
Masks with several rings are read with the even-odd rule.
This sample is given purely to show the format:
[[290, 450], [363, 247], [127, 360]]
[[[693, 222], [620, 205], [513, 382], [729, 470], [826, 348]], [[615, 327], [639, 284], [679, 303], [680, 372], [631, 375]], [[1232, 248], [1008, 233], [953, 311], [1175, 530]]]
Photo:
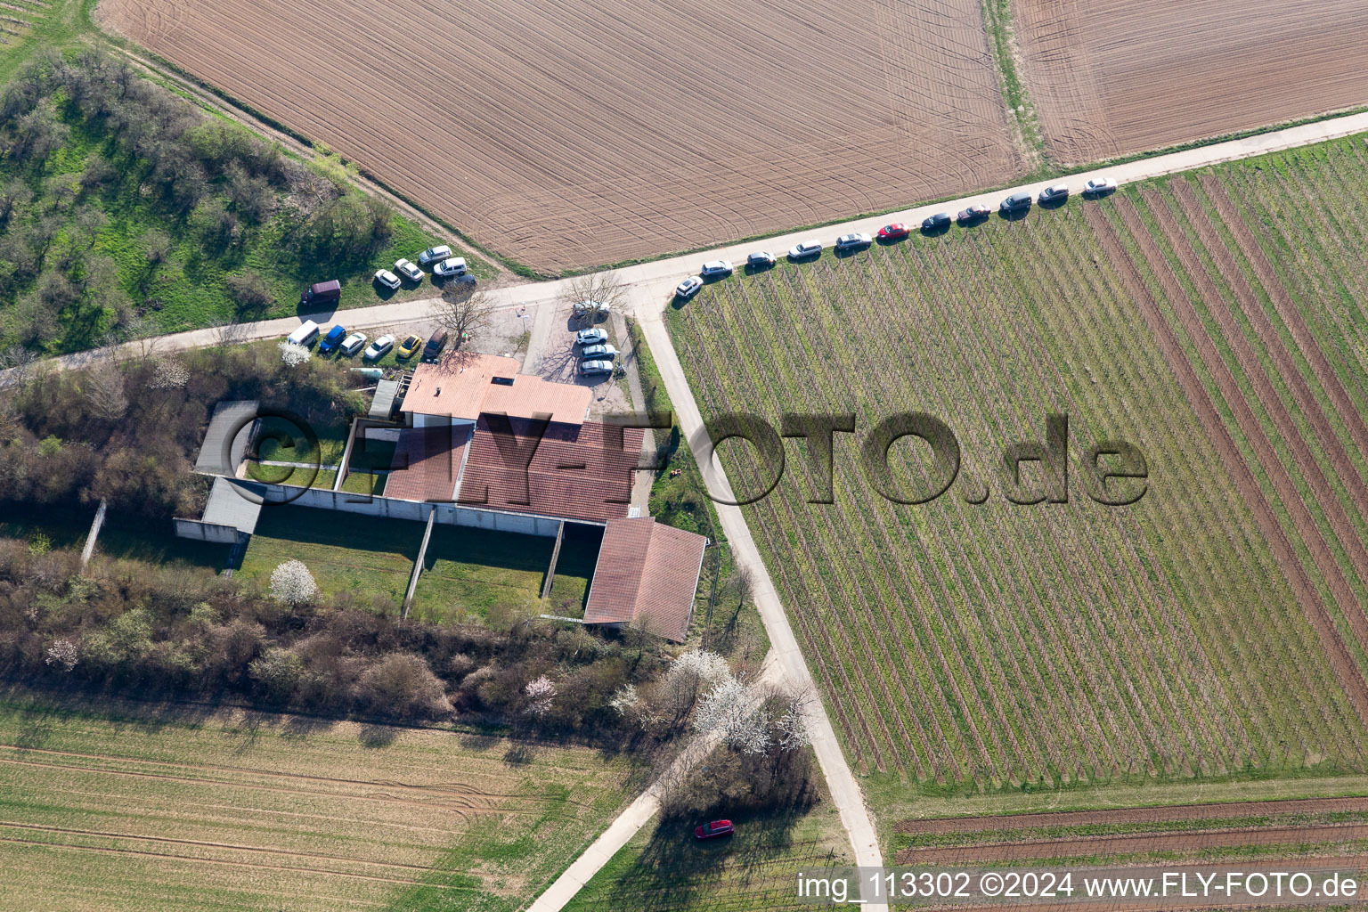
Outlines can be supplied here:
[[1361, 0], [1018, 0], [1045, 145], [1081, 163], [1368, 103]]

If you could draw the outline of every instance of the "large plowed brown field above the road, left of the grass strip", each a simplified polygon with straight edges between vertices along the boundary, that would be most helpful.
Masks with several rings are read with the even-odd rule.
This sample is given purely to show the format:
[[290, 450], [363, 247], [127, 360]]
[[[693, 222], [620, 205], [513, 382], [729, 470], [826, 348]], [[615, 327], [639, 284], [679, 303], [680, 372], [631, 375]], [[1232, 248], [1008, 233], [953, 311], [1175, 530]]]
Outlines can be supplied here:
[[1019, 171], [975, 0], [104, 0], [100, 15], [544, 271]]

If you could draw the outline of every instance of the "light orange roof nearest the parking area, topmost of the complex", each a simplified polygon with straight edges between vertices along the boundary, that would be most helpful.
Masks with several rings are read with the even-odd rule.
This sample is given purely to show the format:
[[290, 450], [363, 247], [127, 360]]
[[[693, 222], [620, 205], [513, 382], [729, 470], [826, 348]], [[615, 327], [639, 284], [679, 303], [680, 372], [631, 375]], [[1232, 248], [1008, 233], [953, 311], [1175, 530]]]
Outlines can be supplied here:
[[440, 364], [415, 368], [399, 412], [464, 421], [486, 412], [513, 418], [550, 416], [558, 424], [583, 424], [591, 399], [588, 387], [518, 373], [516, 358], [449, 351]]

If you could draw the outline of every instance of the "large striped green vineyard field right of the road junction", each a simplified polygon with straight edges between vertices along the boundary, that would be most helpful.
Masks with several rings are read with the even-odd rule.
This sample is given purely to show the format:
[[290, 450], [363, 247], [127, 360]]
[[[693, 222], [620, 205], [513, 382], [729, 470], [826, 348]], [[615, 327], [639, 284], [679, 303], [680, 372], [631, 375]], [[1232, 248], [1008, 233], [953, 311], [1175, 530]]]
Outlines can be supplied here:
[[[807, 502], [792, 442], [744, 511], [885, 823], [928, 794], [1364, 768], [1363, 145], [824, 254], [670, 310], [705, 417], [855, 414], [834, 503]], [[929, 492], [917, 438], [891, 477], [860, 468], [902, 412], [958, 439], [930, 503], [874, 487]], [[1044, 448], [1049, 413], [1068, 499], [1008, 502], [1057, 496], [1041, 464], [1004, 466]], [[1086, 494], [1089, 448], [1116, 439], [1148, 479], [1099, 494], [1142, 484], [1130, 506]], [[752, 447], [721, 457], [739, 492], [773, 476]]]

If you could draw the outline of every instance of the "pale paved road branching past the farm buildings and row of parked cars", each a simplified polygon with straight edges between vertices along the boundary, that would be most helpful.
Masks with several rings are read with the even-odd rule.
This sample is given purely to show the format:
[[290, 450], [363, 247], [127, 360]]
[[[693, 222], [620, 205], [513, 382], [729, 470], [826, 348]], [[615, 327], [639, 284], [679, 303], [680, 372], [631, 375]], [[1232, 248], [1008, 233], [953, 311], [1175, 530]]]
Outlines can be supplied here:
[[[1141, 159], [1138, 161], [1104, 170], [1081, 171], [1067, 178], [1055, 178], [1052, 180], [1040, 180], [1008, 190], [981, 193], [964, 197], [963, 200], [922, 205], [903, 212], [893, 212], [869, 219], [856, 219], [841, 224], [828, 226], [825, 228], [798, 231], [765, 241], [736, 243], [702, 253], [643, 263], [618, 269], [618, 276], [625, 284], [629, 286], [628, 306], [635, 310], [635, 314], [642, 324], [642, 330], [646, 334], [646, 339], [651, 346], [651, 351], [665, 380], [666, 390], [669, 391], [670, 399], [673, 401], [674, 409], [679, 414], [680, 428], [692, 442], [698, 431], [702, 428], [702, 416], [699, 413], [698, 403], [694, 401], [694, 395], [689, 391], [683, 365], [674, 354], [674, 347], [670, 345], [662, 316], [669, 301], [670, 289], [685, 276], [696, 275], [699, 265], [706, 260], [725, 258], [743, 261], [748, 252], [762, 249], [782, 254], [782, 252], [789, 246], [808, 238], [815, 238], [829, 247], [834, 238], [841, 234], [848, 234], [851, 231], [873, 234], [889, 222], [906, 222], [917, 226], [922, 219], [936, 212], [953, 212], [975, 202], [996, 206], [999, 200], [1011, 193], [1030, 191], [1034, 196], [1045, 186], [1053, 183], [1067, 183], [1074, 193], [1079, 191], [1089, 178], [1101, 176], [1104, 174], [1116, 178], [1120, 183], [1134, 183], [1137, 180], [1156, 178], [1175, 171], [1187, 171], [1220, 161], [1249, 159], [1268, 152], [1309, 145], [1363, 131], [1368, 131], [1368, 113], [1334, 118], [1298, 127], [1289, 127], [1286, 130], [1264, 133], [1245, 139], [1231, 139], [1228, 142], [1218, 142], [1185, 152], [1174, 152], [1150, 159]], [[508, 309], [517, 308], [524, 304], [535, 305], [555, 301], [565, 291], [566, 284], [566, 280], [539, 282], [495, 289], [490, 294], [495, 301], [495, 306]], [[349, 328], [371, 328], [421, 321], [430, 314], [431, 308], [432, 299], [428, 298], [408, 301], [404, 304], [358, 308], [341, 312], [339, 314], [327, 313], [308, 316], [317, 317], [319, 323], [323, 323], [324, 320], [332, 321], [334, 316], [341, 316]], [[308, 319], [308, 316], [237, 324], [233, 328], [233, 339], [245, 342], [250, 339], [285, 338], [300, 324], [302, 319]], [[115, 350], [97, 350], [63, 356], [60, 358], [55, 358], [53, 362], [57, 368], [70, 368], [79, 366], [93, 358], [107, 357], [109, 354], [116, 357], [122, 354], [137, 354], [140, 351], [145, 351], [149, 343], [155, 343], [157, 351], [174, 351], [215, 345], [220, 340], [223, 340], [222, 330], [196, 330], [192, 332], [160, 336], [155, 340], [129, 343], [127, 346], [122, 346]], [[5, 375], [0, 376], [0, 384], [11, 376], [12, 372], [5, 372]], [[695, 457], [698, 455], [699, 454], [695, 450]], [[717, 466], [715, 461], [705, 465], [703, 461], [699, 459], [699, 465], [705, 470], [705, 480], [707, 483], [709, 492], [713, 494], [714, 498], [728, 500], [732, 499], [729, 496], [726, 477]], [[737, 507], [729, 507], [721, 503], [718, 505], [718, 515], [722, 522], [722, 529], [726, 532], [726, 536], [733, 547], [737, 562], [748, 566], [754, 574], [755, 600], [773, 645], [773, 655], [770, 659], [781, 666], [785, 681], [798, 685], [811, 682], [811, 674], [799, 649], [793, 630], [788, 623], [784, 606], [778, 600], [778, 595], [772, 580], [769, 578], [763, 561], [761, 561], [759, 551], [751, 539], [750, 528], [746, 525], [744, 517]], [[830, 721], [826, 716], [825, 707], [819, 700], [810, 701], [808, 725], [813, 732], [813, 748], [817, 752], [818, 763], [826, 777], [832, 800], [840, 812], [840, 818], [847, 829], [847, 833], [851, 837], [851, 846], [855, 852], [856, 864], [882, 864], [884, 859], [878, 846], [878, 831], [874, 826], [873, 816], [865, 804], [863, 793], [850, 770], [850, 764], [845, 762], [845, 756], [841, 752], [839, 741], [836, 740]], [[635, 824], [639, 827], [644, 823], [644, 819], [650, 816], [648, 814], [646, 814], [646, 818], [642, 816], [646, 809], [647, 805], [639, 807], [633, 804], [632, 814], [621, 822], [622, 826], [611, 831], [613, 840], [610, 840], [610, 842], [620, 838], [629, 826]], [[635, 830], [632, 831], [635, 833]], [[609, 834], [605, 834], [605, 837], [607, 835]], [[539, 908], [560, 908], [564, 905], [565, 901], [573, 896], [573, 891], [577, 890], [577, 885], [592, 876], [592, 874], [607, 861], [607, 857], [611, 855], [611, 852], [605, 852], [607, 848], [611, 846], [599, 845], [598, 850], [576, 863], [572, 867], [575, 876], [562, 878], [564, 882], [558, 882], [560, 886], [555, 893], [547, 897], [547, 902], [543, 902]], [[557, 905], [557, 902], [560, 905]], [[870, 904], [866, 904], [866, 908], [869, 908], [869, 905]]]

